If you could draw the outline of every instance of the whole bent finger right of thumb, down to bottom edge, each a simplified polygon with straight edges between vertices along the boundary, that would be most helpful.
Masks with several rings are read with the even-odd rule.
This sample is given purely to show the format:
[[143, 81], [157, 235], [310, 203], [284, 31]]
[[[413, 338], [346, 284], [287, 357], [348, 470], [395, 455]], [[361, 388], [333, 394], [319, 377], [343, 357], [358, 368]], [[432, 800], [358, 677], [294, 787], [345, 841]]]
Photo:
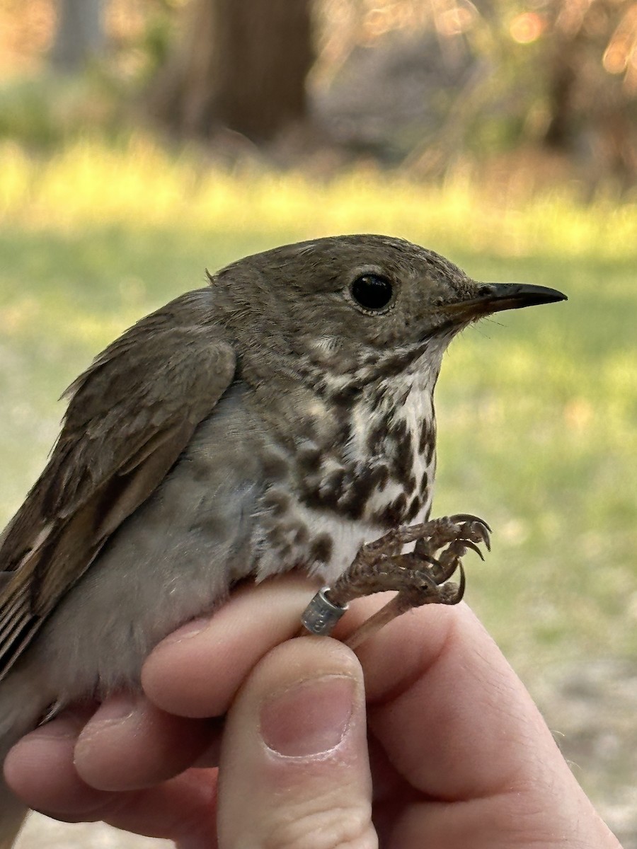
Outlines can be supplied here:
[[403, 616], [360, 655], [369, 728], [422, 794], [396, 818], [397, 846], [419, 846], [424, 835], [449, 849], [527, 845], [528, 835], [538, 845], [616, 845], [465, 604]]

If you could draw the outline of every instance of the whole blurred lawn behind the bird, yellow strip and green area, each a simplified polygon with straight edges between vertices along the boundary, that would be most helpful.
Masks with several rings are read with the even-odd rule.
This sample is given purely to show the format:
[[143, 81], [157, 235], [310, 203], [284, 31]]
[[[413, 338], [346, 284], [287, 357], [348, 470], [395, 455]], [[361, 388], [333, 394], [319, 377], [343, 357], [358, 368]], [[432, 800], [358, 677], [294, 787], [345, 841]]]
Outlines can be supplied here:
[[440, 189], [217, 171], [144, 138], [38, 160], [0, 150], [0, 523], [37, 476], [55, 398], [136, 318], [246, 253], [385, 232], [475, 278], [567, 304], [502, 313], [454, 342], [437, 390], [436, 513], [494, 529], [467, 598], [514, 665], [637, 653], [637, 206], [567, 189], [524, 200], [462, 175]]

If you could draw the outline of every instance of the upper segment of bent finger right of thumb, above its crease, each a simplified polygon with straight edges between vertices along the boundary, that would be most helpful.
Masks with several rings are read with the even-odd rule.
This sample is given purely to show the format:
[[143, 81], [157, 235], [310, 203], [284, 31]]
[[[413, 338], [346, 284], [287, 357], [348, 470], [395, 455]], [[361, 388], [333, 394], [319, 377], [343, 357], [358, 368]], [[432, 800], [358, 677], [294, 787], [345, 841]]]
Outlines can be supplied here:
[[404, 616], [362, 647], [361, 660], [370, 724], [428, 796], [499, 792], [555, 753], [538, 709], [465, 604]]

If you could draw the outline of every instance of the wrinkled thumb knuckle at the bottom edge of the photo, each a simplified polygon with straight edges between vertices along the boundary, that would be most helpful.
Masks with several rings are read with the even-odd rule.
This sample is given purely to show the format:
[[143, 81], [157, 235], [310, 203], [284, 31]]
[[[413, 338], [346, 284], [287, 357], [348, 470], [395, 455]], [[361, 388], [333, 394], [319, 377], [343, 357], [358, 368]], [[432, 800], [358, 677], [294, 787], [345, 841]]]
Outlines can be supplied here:
[[369, 807], [288, 810], [273, 821], [262, 849], [376, 849]]

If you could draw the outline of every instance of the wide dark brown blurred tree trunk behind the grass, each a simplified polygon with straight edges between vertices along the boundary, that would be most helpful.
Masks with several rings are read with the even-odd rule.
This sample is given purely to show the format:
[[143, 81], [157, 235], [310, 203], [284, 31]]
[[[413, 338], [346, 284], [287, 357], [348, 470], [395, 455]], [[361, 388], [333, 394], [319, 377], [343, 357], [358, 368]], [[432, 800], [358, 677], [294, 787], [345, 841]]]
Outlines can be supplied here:
[[183, 37], [149, 90], [179, 136], [222, 128], [267, 143], [307, 117], [312, 0], [190, 0]]

